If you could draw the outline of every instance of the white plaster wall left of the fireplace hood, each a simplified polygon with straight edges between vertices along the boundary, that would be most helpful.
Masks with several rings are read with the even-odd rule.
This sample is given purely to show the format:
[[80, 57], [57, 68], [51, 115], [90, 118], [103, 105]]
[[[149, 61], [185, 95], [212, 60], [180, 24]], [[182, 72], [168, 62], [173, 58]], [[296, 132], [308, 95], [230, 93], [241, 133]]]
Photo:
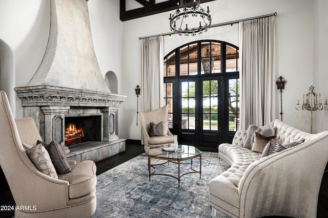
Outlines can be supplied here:
[[16, 117], [23, 117], [23, 107], [13, 89], [25, 86], [36, 72], [46, 51], [49, 28], [50, 1], [0, 2], [0, 39], [12, 51], [13, 64], [1, 73], [6, 74], [8, 80], [3, 82], [10, 84], [6, 92]]

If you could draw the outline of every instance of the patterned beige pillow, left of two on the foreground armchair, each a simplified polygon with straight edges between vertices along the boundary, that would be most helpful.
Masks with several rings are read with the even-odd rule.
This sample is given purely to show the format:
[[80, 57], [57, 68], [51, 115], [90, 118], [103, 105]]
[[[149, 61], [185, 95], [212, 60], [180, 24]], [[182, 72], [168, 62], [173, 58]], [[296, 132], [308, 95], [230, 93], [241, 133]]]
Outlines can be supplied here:
[[34, 166], [45, 175], [58, 179], [55, 167], [51, 162], [51, 158], [47, 149], [42, 144], [37, 144], [26, 150], [26, 154], [34, 164]]

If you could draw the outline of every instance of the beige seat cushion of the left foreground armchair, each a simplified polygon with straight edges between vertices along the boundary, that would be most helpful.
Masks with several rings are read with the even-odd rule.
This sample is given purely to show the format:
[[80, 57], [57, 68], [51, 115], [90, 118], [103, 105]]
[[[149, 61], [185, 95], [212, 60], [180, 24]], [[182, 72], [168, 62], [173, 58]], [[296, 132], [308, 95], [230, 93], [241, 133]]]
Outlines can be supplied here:
[[82, 197], [95, 190], [96, 169], [95, 163], [87, 160], [71, 165], [71, 172], [58, 175], [58, 179], [69, 182], [70, 199]]

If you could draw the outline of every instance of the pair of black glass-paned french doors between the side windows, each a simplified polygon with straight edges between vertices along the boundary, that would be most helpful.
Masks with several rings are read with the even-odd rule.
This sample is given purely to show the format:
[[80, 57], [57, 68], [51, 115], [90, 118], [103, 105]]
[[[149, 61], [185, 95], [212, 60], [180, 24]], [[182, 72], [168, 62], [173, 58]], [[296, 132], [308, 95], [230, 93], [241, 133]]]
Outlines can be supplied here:
[[222, 143], [222, 77], [179, 79], [179, 142], [217, 149]]

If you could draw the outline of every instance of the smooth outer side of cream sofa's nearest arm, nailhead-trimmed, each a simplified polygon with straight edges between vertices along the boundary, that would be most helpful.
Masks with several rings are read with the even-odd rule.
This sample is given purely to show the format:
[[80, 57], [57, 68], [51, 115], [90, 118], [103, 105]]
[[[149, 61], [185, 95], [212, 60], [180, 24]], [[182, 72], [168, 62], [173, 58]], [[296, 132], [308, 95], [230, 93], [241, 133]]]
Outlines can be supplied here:
[[240, 217], [316, 217], [328, 134], [252, 163], [239, 183]]

